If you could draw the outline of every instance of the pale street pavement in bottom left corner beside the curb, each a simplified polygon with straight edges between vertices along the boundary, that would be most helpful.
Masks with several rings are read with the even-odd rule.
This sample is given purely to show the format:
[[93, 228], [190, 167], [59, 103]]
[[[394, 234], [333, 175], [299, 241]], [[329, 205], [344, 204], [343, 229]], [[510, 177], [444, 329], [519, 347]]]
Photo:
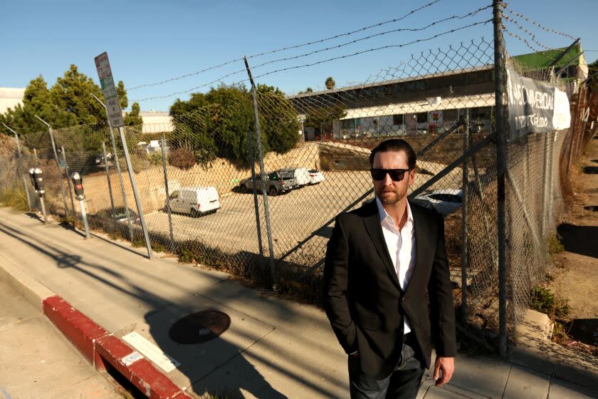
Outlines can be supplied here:
[[39, 309], [0, 281], [0, 398], [122, 399]]

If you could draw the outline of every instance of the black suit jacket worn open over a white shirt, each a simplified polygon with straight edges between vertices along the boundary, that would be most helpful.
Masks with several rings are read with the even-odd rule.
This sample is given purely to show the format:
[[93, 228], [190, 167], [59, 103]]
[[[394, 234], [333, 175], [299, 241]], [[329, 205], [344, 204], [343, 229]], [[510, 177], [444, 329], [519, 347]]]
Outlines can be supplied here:
[[404, 292], [384, 241], [375, 201], [339, 214], [327, 246], [326, 314], [342, 348], [347, 353], [359, 351], [362, 371], [374, 378], [387, 377], [397, 366], [405, 317], [427, 367], [431, 363], [431, 337], [437, 356], [456, 355], [444, 221], [430, 209], [409, 205], [416, 263]]

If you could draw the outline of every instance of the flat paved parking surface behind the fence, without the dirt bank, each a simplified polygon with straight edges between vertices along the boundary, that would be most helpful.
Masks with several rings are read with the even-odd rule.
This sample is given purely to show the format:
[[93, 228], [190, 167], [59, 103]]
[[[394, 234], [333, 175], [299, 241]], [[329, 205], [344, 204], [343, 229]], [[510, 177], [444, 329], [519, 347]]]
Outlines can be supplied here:
[[[436, 170], [441, 165], [421, 165], [426, 170]], [[414, 189], [429, 180], [431, 175], [416, 174]], [[433, 188], [460, 187], [461, 170], [455, 170]], [[280, 257], [312, 232], [322, 227], [336, 214], [342, 212], [372, 187], [368, 171], [325, 172], [325, 181], [308, 185], [284, 195], [268, 196], [271, 231], [275, 257]], [[266, 219], [263, 197], [258, 192], [261, 214], [263, 246], [267, 250]], [[164, 211], [147, 214], [146, 222], [150, 232], [169, 233], [168, 216]], [[237, 190], [221, 195], [221, 209], [215, 214], [192, 218], [184, 214], [172, 214], [174, 238], [179, 240], [198, 239], [209, 247], [218, 247], [224, 252], [258, 252], [258, 237], [253, 194], [242, 194]], [[318, 237], [310, 240], [301, 252], [301, 257], [319, 259], [325, 251], [327, 233], [324, 229]], [[295, 259], [311, 264], [313, 259]]]

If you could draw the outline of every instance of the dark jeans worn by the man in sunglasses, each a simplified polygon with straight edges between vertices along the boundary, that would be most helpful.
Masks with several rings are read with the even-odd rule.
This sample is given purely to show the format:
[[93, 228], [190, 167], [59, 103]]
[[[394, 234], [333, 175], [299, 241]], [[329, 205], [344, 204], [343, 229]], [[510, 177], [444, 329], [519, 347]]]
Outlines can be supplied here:
[[349, 356], [351, 399], [414, 399], [417, 396], [424, 367], [416, 356], [416, 344], [403, 343], [401, 360], [391, 375], [376, 380], [363, 373], [357, 356]]

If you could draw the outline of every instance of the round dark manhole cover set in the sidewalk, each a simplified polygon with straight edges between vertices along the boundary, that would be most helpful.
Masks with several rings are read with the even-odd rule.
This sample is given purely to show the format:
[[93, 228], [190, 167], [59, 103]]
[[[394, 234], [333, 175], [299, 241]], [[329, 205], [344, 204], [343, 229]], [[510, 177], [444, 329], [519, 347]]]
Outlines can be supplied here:
[[200, 311], [184, 316], [172, 325], [168, 335], [177, 343], [202, 343], [216, 338], [231, 326], [231, 318], [221, 311]]

